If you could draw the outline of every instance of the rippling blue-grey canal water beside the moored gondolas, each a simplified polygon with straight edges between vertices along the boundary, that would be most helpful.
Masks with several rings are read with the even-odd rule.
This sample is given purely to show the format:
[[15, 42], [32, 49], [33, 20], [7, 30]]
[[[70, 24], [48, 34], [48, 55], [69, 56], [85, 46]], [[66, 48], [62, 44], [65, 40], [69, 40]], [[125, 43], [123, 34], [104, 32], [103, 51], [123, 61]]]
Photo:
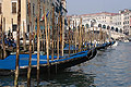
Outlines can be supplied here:
[[[0, 76], [0, 86], [13, 86], [14, 76]], [[26, 87], [26, 76], [19, 84]], [[58, 72], [51, 76], [40, 75], [41, 87], [131, 87], [131, 42], [119, 42], [98, 51], [87, 62]], [[37, 86], [32, 76], [32, 87]]]

